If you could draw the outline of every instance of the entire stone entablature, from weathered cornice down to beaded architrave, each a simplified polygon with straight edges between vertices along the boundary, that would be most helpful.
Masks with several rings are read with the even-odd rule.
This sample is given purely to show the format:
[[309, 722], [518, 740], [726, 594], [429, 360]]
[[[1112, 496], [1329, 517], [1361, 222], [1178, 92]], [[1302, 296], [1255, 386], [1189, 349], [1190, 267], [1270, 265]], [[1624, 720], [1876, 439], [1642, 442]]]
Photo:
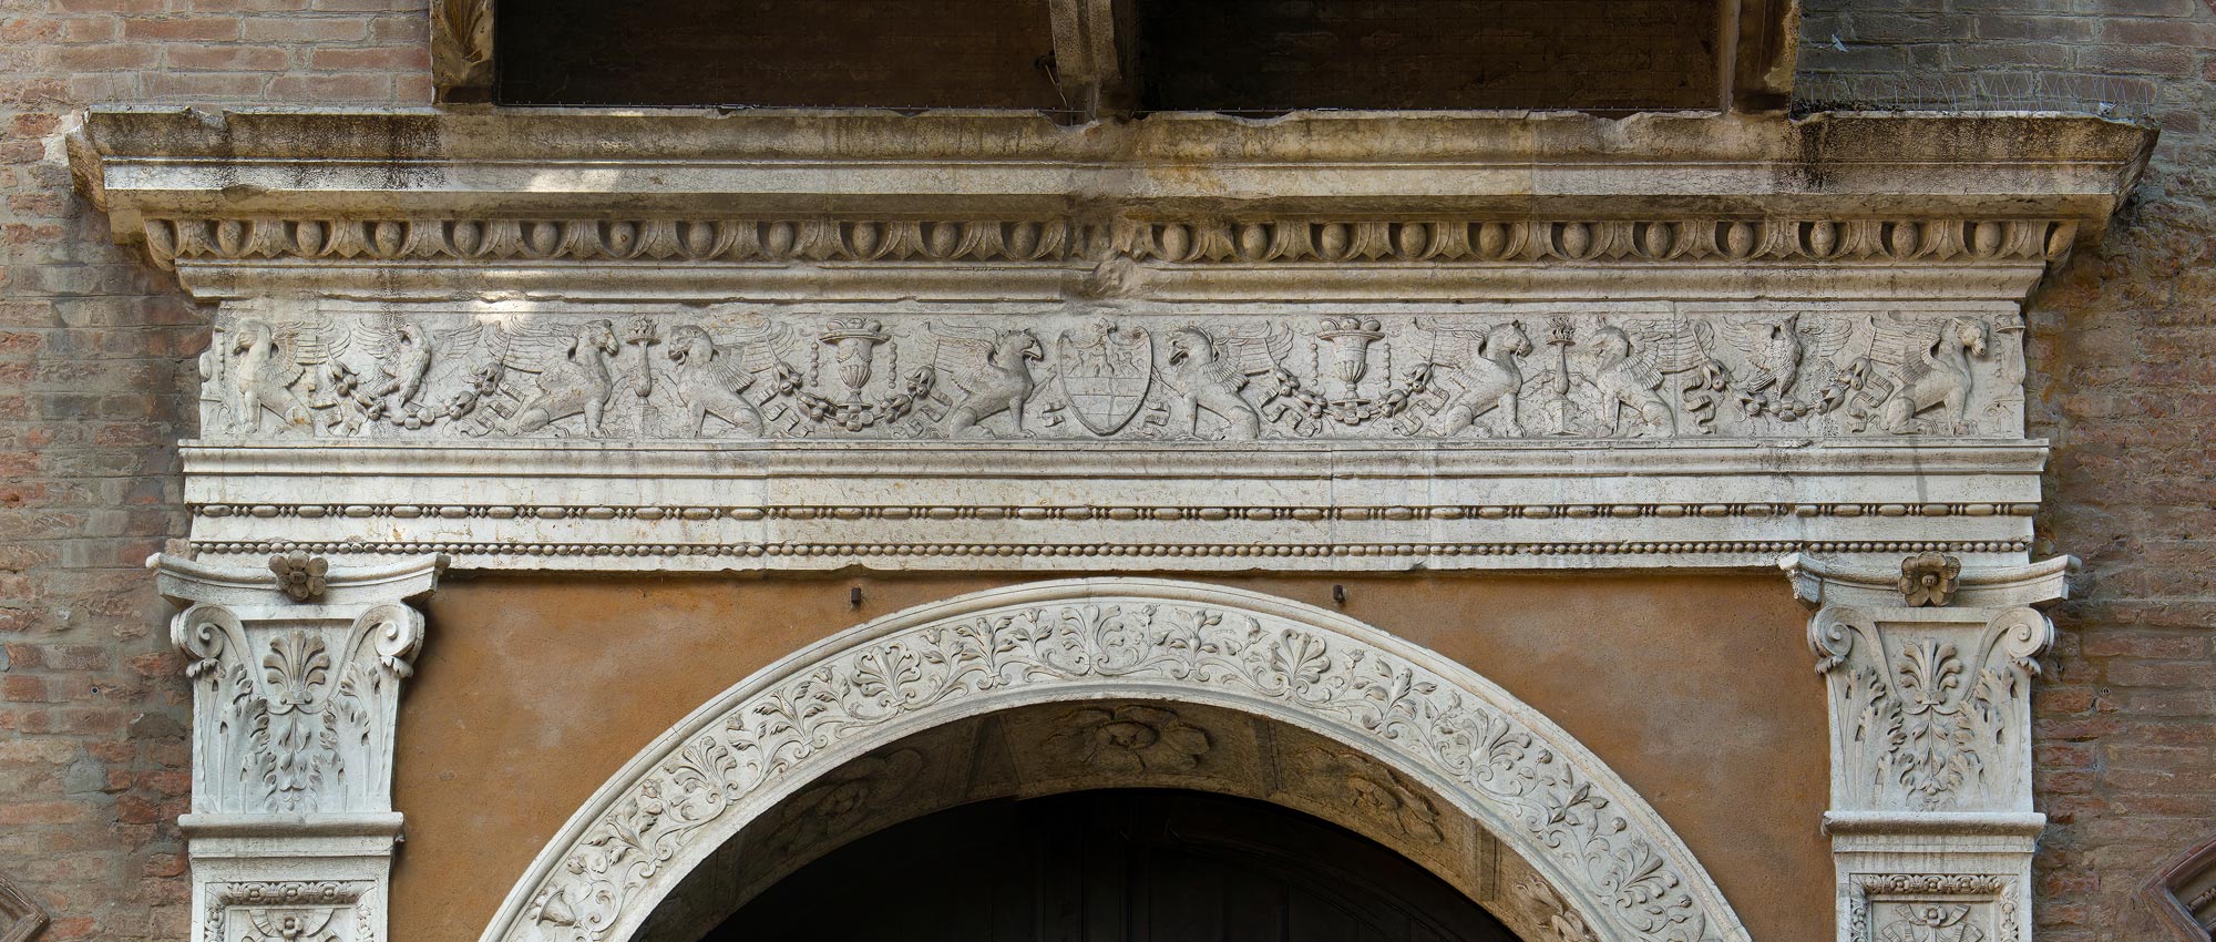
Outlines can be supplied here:
[[465, 567], [2021, 563], [2081, 117], [98, 111], [193, 545]]

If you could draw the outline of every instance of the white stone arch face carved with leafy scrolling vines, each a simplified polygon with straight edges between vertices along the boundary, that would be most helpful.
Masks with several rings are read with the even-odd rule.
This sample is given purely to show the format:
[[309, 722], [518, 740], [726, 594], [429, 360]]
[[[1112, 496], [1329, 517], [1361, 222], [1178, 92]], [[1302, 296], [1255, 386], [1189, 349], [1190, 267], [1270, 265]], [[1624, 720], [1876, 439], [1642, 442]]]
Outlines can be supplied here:
[[1662, 818], [1469, 667], [1354, 618], [1166, 578], [975, 592], [840, 632], [716, 696], [609, 778], [483, 942], [632, 942], [674, 887], [831, 769], [999, 709], [1168, 700], [1338, 740], [1443, 796], [1567, 904], [1573, 942], [1746, 942]]

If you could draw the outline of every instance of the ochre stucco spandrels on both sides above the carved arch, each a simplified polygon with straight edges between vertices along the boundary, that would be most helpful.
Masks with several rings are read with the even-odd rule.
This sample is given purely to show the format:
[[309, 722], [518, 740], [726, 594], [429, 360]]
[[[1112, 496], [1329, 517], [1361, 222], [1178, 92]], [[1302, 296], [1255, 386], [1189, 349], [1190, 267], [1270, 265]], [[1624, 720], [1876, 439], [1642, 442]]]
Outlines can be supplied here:
[[[1591, 747], [1755, 942], [1826, 938], [1824, 692], [1775, 574], [1208, 578], [1456, 658]], [[401, 703], [392, 938], [474, 940], [556, 829], [687, 711], [787, 652], [1006, 576], [456, 578]], [[849, 607], [849, 587], [862, 607]]]

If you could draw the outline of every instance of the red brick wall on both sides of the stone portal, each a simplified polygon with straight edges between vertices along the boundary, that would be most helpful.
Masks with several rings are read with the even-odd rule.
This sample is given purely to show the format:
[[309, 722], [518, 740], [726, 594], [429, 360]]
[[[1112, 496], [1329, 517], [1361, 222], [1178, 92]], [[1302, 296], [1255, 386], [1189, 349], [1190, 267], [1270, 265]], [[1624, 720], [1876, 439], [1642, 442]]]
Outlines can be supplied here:
[[[1810, 0], [1804, 27], [1813, 100], [2021, 93], [2165, 129], [2118, 231], [2032, 306], [2043, 550], [2087, 561], [2037, 700], [2037, 918], [2145, 938], [2125, 900], [2216, 831], [2216, 11]], [[71, 195], [60, 131], [93, 102], [423, 104], [423, 47], [421, 0], [0, 0], [0, 873], [53, 940], [186, 929], [186, 687], [137, 565], [182, 532], [168, 443], [206, 332]]]

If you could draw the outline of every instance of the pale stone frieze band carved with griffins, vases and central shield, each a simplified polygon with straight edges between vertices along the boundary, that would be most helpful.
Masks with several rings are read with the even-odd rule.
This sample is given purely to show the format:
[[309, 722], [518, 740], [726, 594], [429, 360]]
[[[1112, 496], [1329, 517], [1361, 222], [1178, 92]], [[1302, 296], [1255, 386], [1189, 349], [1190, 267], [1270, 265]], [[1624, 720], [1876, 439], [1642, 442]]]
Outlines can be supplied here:
[[211, 439], [2019, 437], [2014, 315], [230, 310]]

